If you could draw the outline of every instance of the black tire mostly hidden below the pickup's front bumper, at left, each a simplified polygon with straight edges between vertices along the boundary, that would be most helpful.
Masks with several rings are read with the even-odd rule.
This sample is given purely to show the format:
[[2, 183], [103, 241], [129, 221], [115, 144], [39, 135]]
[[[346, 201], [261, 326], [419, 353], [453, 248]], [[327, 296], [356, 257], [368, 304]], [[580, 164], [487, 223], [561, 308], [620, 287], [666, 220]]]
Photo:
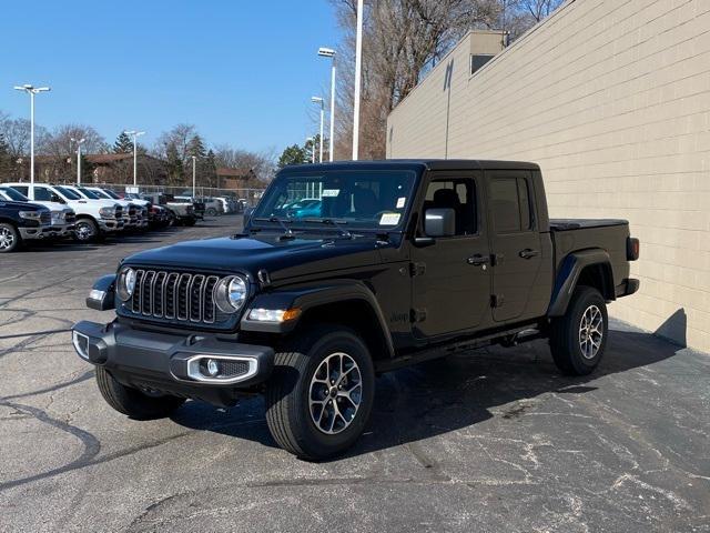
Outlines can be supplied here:
[[119, 383], [102, 366], [97, 366], [97, 384], [109, 405], [135, 420], [164, 419], [185, 402], [184, 398], [168, 394], [163, 396], [143, 394], [138, 389]]

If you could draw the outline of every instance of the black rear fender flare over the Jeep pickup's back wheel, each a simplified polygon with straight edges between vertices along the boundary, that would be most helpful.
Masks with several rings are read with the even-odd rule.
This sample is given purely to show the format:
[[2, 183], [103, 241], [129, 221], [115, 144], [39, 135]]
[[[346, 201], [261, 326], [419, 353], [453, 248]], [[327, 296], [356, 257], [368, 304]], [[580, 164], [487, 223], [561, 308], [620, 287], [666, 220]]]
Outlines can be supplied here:
[[597, 289], [607, 301], [616, 300], [611, 260], [606, 250], [580, 250], [562, 260], [555, 280], [548, 316], [564, 315], [579, 285]]

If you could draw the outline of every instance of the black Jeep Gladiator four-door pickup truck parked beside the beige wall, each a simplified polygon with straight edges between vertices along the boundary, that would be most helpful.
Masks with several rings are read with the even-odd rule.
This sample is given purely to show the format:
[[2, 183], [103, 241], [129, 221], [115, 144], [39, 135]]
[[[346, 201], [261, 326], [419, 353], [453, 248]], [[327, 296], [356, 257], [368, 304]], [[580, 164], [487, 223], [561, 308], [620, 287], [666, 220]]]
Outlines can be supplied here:
[[626, 221], [549, 220], [531, 163], [288, 167], [242, 233], [123, 260], [87, 300], [115, 319], [72, 341], [121, 413], [263, 392], [276, 442], [317, 460], [362, 433], [379, 372], [547, 338], [588, 374], [638, 253]]

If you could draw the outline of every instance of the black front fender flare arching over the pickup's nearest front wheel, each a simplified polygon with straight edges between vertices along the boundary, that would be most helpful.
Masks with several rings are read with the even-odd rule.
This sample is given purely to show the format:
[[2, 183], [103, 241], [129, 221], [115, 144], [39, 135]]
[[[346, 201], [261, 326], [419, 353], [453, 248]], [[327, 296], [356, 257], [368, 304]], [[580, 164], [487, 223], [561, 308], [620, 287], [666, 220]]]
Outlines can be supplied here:
[[[379, 308], [379, 303], [373, 291], [362, 281], [354, 280], [329, 280], [324, 284], [303, 285], [297, 288], [275, 289], [270, 292], [257, 294], [250, 303], [242, 315], [240, 329], [242, 331], [260, 333], [286, 334], [292, 332], [301, 322], [307, 311], [321, 305], [344, 301], [365, 302], [375, 315], [379, 330], [385, 340], [389, 356], [395, 355], [394, 343], [387, 321]], [[287, 310], [300, 309], [297, 319], [287, 322], [260, 322], [248, 319], [252, 309]]]

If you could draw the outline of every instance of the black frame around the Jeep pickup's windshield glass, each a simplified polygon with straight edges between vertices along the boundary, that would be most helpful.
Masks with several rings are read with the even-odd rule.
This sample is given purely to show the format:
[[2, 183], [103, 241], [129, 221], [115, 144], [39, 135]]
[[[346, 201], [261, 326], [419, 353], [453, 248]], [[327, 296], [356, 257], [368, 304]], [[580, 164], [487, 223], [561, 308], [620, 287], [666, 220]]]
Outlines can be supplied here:
[[[316, 177], [316, 175], [326, 175], [328, 173], [332, 174], [344, 174], [344, 173], [361, 173], [361, 174], [372, 174], [374, 172], [382, 173], [409, 173], [412, 174], [412, 181], [409, 185], [409, 190], [406, 191], [406, 202], [404, 210], [402, 211], [402, 218], [399, 222], [395, 225], [377, 225], [375, 221], [373, 221], [372, 225], [358, 225], [358, 223], [353, 223], [353, 221], [337, 218], [337, 217], [304, 217], [304, 218], [286, 218], [286, 217], [276, 217], [281, 222], [287, 223], [288, 228], [293, 231], [338, 231], [343, 232], [346, 230], [347, 232], [353, 233], [404, 233], [407, 228], [407, 223], [409, 221], [409, 217], [414, 205], [416, 204], [416, 197], [418, 194], [418, 187], [422, 180], [423, 171], [415, 167], [392, 167], [382, 165], [379, 168], [326, 168], [326, 169], [315, 169], [313, 167], [308, 169], [298, 169], [287, 168], [280, 171], [274, 180], [268, 184], [268, 188], [264, 192], [264, 195], [260, 199], [258, 204], [254, 208], [254, 211], [250, 214], [247, 228], [258, 228], [258, 229], [270, 229], [270, 230], [282, 230], [282, 227], [278, 222], [270, 222], [266, 219], [270, 219], [275, 215], [271, 214], [262, 214], [258, 212], [262, 202], [265, 202], [270, 199], [270, 195], [273, 194], [272, 190], [276, 188], [277, 180], [280, 179], [290, 179], [290, 178], [304, 178], [304, 177]], [[311, 199], [312, 200], [312, 199]], [[301, 201], [301, 200], [298, 200]], [[258, 219], [258, 220], [256, 220]], [[333, 223], [335, 221], [335, 223]]]

